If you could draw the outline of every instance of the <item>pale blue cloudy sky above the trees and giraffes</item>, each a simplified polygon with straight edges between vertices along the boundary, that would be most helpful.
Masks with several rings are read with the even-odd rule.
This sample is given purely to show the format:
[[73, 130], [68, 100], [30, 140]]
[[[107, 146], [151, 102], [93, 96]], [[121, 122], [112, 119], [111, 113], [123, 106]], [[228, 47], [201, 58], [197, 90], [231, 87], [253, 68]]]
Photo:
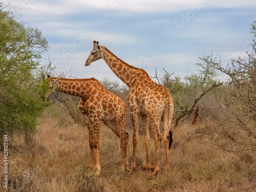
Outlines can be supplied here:
[[48, 40], [50, 61], [67, 76], [119, 80], [104, 60], [85, 67], [93, 40], [150, 76], [164, 68], [176, 76], [196, 73], [199, 57], [223, 65], [250, 50], [255, 0], [1, 0], [18, 22], [37, 27]]

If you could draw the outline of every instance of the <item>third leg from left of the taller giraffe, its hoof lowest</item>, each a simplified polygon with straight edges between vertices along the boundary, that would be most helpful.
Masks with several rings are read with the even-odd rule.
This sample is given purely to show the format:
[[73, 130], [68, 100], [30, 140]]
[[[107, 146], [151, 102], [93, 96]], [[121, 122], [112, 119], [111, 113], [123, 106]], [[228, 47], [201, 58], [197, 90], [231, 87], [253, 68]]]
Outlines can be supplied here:
[[158, 172], [159, 172], [159, 154], [160, 154], [160, 143], [161, 143], [161, 133], [160, 133], [160, 120], [151, 120], [151, 125], [153, 128], [153, 132], [154, 132], [154, 140], [155, 140], [155, 150], [156, 150], [156, 154], [155, 154], [155, 158], [156, 158], [156, 162], [155, 162], [155, 167], [154, 167], [154, 172], [152, 174], [153, 177], [156, 177]]

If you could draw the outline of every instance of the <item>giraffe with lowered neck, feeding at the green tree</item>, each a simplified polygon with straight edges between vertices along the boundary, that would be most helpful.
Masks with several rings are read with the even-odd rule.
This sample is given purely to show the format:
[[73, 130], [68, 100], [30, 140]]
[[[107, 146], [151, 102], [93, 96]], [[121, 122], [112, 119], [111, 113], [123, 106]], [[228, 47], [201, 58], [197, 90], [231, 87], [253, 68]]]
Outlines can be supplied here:
[[95, 175], [100, 175], [100, 120], [120, 138], [121, 170], [129, 170], [126, 158], [129, 135], [126, 132], [126, 104], [123, 100], [106, 90], [95, 78], [68, 79], [48, 77], [50, 78], [49, 88], [81, 97], [79, 109], [88, 128], [91, 168], [95, 170]]

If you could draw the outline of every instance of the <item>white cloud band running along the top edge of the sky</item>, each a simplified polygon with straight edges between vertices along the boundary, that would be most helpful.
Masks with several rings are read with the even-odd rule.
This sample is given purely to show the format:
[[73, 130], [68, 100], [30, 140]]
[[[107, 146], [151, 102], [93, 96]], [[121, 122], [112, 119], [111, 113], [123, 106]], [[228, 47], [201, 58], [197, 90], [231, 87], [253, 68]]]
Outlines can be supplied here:
[[[9, 0], [3, 1], [6, 5]], [[191, 7], [201, 6], [210, 8], [252, 8], [256, 6], [256, 1], [234, 0], [232, 3], [222, 0], [98, 0], [98, 1], [80, 1], [62, 0], [53, 1], [37, 1], [37, 0], [20, 0], [13, 1], [9, 8], [23, 14], [24, 17], [30, 19], [44, 19], [44, 17], [61, 16], [69, 14], [92, 13], [97, 17], [101, 10], [109, 11], [125, 11], [138, 14], [159, 13], [159, 12], [177, 12], [190, 10]], [[33, 15], [33, 17], [31, 17]], [[132, 16], [132, 15], [131, 15]]]

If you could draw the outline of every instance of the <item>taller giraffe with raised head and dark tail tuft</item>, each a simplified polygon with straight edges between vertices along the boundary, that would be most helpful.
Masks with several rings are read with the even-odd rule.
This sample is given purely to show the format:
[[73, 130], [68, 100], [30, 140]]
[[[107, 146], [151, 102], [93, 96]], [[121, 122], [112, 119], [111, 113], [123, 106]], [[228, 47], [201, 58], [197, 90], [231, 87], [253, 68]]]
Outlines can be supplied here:
[[154, 134], [156, 154], [152, 176], [156, 177], [160, 169], [159, 153], [162, 140], [160, 134], [161, 120], [164, 127], [165, 168], [169, 168], [169, 148], [173, 141], [172, 131], [169, 130], [174, 114], [172, 96], [163, 86], [154, 82], [143, 69], [129, 65], [115, 56], [105, 46], [99, 46], [98, 41], [93, 41], [93, 50], [91, 51], [85, 66], [89, 66], [92, 62], [98, 59], [103, 59], [117, 77], [130, 88], [130, 92], [127, 96], [133, 124], [133, 159], [130, 173], [133, 173], [136, 169], [139, 116], [141, 116], [144, 127], [146, 170], [150, 170], [151, 168], [150, 157], [148, 154], [150, 123]]

